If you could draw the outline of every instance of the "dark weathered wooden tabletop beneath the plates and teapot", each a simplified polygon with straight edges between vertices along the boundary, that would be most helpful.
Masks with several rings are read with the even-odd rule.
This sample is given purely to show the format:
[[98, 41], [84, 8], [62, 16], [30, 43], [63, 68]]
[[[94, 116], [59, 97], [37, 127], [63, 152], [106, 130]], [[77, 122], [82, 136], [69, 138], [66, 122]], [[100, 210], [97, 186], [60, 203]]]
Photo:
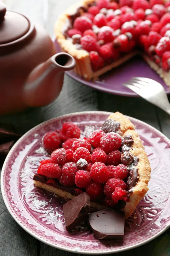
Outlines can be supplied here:
[[[42, 11], [42, 0], [6, 0], [7, 5], [20, 12], [28, 7], [28, 2], [35, 3], [35, 11]], [[23, 2], [26, 4], [24, 5]], [[44, 22], [52, 35], [52, 26], [56, 15], [65, 6], [76, 0], [49, 0], [48, 20], [42, 19], [40, 13], [33, 12], [32, 17]], [[58, 7], [57, 7], [58, 6]], [[28, 10], [30, 12], [30, 10]], [[170, 100], [170, 97], [169, 97]], [[65, 75], [64, 86], [58, 99], [43, 108], [29, 109], [23, 113], [0, 116], [0, 122], [13, 124], [19, 133], [25, 133], [35, 125], [52, 117], [77, 111], [120, 111], [125, 115], [140, 119], [165, 134], [170, 139], [170, 116], [159, 108], [141, 98], [115, 96], [94, 90]], [[0, 168], [4, 158], [0, 158]], [[0, 256], [74, 256], [75, 253], [64, 252], [34, 239], [24, 231], [11, 217], [0, 194]], [[80, 254], [77, 254], [80, 255]], [[115, 256], [170, 256], [170, 229], [157, 239], [127, 252]]]

